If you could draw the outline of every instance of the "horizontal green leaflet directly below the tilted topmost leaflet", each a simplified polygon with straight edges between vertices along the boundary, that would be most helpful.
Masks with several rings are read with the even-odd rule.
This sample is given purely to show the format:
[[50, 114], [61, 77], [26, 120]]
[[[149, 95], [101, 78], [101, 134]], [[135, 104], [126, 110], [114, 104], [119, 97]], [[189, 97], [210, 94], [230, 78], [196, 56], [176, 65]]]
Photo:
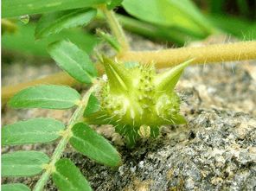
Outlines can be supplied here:
[[67, 86], [31, 86], [10, 99], [14, 108], [67, 109], [77, 105], [80, 94]]

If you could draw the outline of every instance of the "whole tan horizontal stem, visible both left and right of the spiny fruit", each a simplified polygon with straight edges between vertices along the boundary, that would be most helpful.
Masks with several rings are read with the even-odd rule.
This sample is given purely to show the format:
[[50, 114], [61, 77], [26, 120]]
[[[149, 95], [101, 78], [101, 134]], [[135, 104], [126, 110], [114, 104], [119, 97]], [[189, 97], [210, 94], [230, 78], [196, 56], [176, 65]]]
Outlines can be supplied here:
[[[231, 44], [216, 44], [197, 48], [172, 48], [159, 51], [127, 51], [119, 56], [123, 61], [140, 61], [141, 63], [156, 64], [156, 67], [173, 67], [177, 64], [195, 58], [194, 64], [208, 64], [220, 61], [256, 60], [256, 41], [241, 41]], [[103, 68], [97, 65], [99, 74]], [[38, 84], [62, 84], [72, 86], [77, 83], [67, 73], [49, 75], [41, 80], [32, 80], [16, 86], [5, 86], [2, 88], [2, 104], [6, 103], [16, 92], [28, 86]]]

